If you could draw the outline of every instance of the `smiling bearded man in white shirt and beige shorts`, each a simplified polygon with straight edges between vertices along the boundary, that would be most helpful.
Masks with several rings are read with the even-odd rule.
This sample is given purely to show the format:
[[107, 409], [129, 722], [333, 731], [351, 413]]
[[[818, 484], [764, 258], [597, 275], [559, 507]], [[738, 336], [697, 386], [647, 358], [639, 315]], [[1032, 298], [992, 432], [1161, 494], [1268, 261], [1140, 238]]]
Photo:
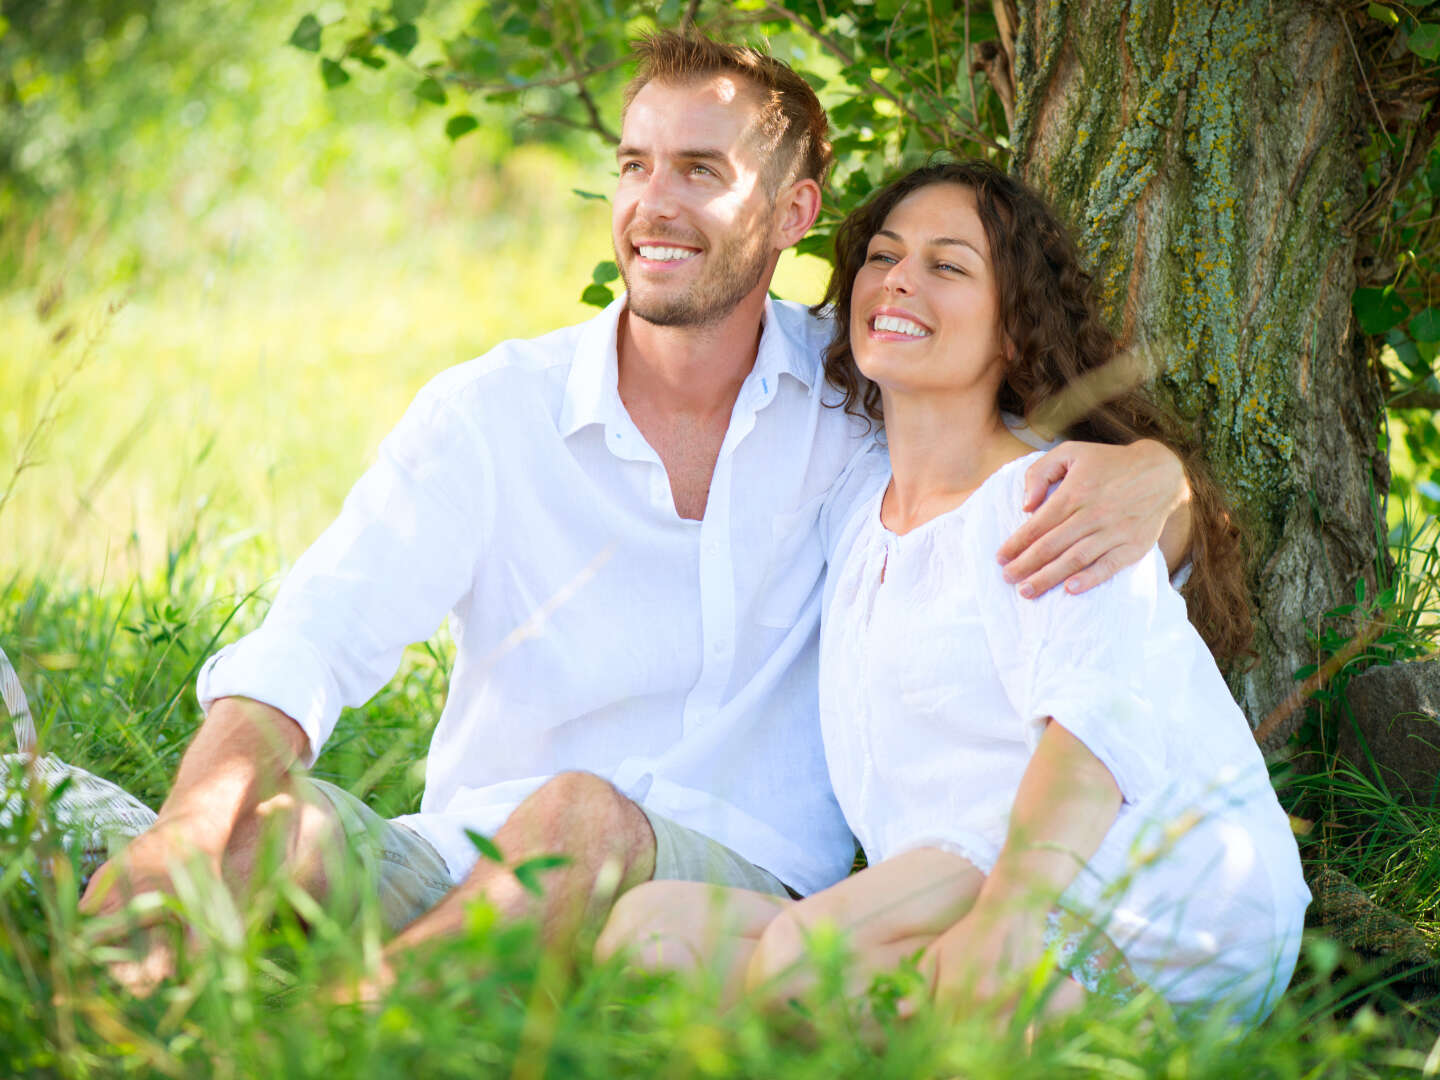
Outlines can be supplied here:
[[[88, 909], [167, 891], [196, 855], [242, 886], [268, 825], [315, 894], [321, 852], [382, 850], [389, 959], [458, 932], [477, 897], [564, 946], [652, 877], [785, 894], [848, 870], [816, 634], [822, 510], [867, 435], [827, 406], [825, 324], [768, 300], [819, 212], [825, 115], [750, 49], [660, 35], [638, 53], [613, 199], [626, 295], [422, 390], [265, 625], [206, 664], [170, 798]], [[1041, 465], [1037, 503], [1070, 475], [1007, 547], [1024, 588], [1100, 580], [1182, 501], [1153, 444]], [[1123, 527], [1094, 524], [1107, 500]], [[384, 822], [300, 766], [445, 612], [456, 660], [420, 814]], [[510, 864], [570, 863], [534, 899], [467, 829]], [[167, 968], [157, 945], [120, 973], [144, 988]]]

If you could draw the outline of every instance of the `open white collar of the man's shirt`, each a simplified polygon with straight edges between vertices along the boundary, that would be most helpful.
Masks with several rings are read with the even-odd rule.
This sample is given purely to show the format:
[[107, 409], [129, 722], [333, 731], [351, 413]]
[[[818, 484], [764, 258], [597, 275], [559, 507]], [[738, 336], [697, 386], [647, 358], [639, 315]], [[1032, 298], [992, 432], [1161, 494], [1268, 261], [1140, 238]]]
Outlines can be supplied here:
[[[618, 333], [625, 295], [621, 294], [599, 315], [580, 330], [580, 340], [570, 364], [560, 405], [560, 436], [569, 438], [590, 423], [611, 423], [625, 415], [619, 393]], [[789, 317], [788, 317], [789, 315]], [[769, 382], [789, 374], [806, 386], [818, 370], [816, 343], [811, 338], [808, 320], [795, 318], [765, 298], [765, 328], [755, 356], [750, 382], [759, 380], [769, 395]], [[824, 346], [821, 346], [824, 347]]]

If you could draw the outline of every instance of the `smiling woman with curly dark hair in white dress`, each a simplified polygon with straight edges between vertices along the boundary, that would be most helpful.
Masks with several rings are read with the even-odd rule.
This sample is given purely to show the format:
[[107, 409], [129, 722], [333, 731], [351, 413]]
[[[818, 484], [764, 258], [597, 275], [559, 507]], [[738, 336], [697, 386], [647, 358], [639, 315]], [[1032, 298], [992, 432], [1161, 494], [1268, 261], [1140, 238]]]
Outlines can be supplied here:
[[[1032, 449], [1165, 436], [1116, 353], [1066, 230], [985, 164], [912, 173], [837, 235], [827, 377], [883, 419], [871, 492], [831, 521], [821, 723], [870, 867], [806, 900], [730, 893], [733, 985], [804, 984], [808, 933], [851, 935], [857, 985], [920, 955], [936, 999], [994, 998], [1056, 949], [1057, 998], [1133, 992], [1263, 1017], [1295, 968], [1309, 893], [1220, 652], [1248, 642], [1237, 541], [1201, 471], [1191, 621], [1159, 552], [1081, 596], [1024, 599], [994, 552], [1025, 517]], [[1083, 397], [1089, 395], [1089, 399]], [[1080, 397], [1077, 403], [1077, 397]], [[865, 482], [864, 472], [854, 482]], [[624, 897], [599, 949], [690, 966], [721, 942], [704, 887]]]

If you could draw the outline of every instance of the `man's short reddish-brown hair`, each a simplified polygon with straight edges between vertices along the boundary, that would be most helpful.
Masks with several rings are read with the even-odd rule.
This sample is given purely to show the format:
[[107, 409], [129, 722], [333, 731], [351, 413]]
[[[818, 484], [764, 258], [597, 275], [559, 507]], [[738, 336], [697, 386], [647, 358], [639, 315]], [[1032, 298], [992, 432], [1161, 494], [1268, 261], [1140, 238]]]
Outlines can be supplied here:
[[648, 82], [684, 86], [710, 75], [739, 75], [760, 94], [759, 140], [770, 190], [802, 179], [824, 187], [831, 164], [829, 118], [809, 84], [783, 62], [749, 45], [674, 30], [636, 40], [635, 59], [635, 76], [625, 86], [626, 109]]

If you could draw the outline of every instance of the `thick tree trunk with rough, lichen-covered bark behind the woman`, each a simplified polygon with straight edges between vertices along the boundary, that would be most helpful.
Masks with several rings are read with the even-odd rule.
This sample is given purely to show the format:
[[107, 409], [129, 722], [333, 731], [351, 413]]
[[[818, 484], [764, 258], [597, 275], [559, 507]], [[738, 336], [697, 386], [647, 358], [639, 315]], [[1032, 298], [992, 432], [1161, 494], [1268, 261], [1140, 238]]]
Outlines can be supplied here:
[[[1364, 184], [1344, 19], [1297, 0], [1041, 0], [1007, 42], [1017, 168], [1076, 226], [1122, 340], [1161, 346], [1158, 392], [1241, 511], [1260, 658], [1231, 687], [1253, 724], [1313, 662], [1306, 631], [1374, 585], [1388, 487], [1349, 304]], [[1267, 747], [1297, 723], [1269, 724]]]

